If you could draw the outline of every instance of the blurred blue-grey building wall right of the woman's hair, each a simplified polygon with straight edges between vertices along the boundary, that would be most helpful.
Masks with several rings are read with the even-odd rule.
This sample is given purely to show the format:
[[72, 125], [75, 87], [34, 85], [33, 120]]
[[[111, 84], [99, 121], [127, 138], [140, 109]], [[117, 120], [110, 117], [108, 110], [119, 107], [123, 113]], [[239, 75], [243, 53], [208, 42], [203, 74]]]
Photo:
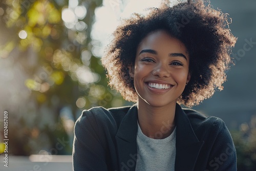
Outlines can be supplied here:
[[222, 118], [229, 129], [256, 115], [256, 1], [211, 1], [215, 9], [232, 18], [231, 32], [238, 37], [231, 57], [235, 66], [227, 72], [224, 90], [194, 109]]

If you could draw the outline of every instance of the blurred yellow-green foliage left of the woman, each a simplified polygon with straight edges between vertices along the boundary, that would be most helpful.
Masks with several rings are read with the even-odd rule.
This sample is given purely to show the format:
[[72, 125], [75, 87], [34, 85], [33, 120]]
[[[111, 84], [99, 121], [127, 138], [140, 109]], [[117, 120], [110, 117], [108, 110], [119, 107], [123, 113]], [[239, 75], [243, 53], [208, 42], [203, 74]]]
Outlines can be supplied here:
[[[15, 89], [29, 90], [24, 92], [26, 99], [18, 99], [28, 105], [20, 103], [14, 109], [11, 104], [2, 104], [12, 114], [9, 154], [38, 154], [41, 149], [49, 152], [62, 138], [69, 143], [57, 154], [71, 154], [74, 121], [82, 109], [125, 103], [107, 87], [100, 58], [92, 54], [94, 10], [101, 4], [102, 0], [84, 0], [76, 5], [79, 8], [71, 8], [67, 0], [0, 2], [0, 29], [3, 35], [8, 34], [0, 41], [0, 59], [15, 58], [13, 66], [25, 75], [23, 84], [16, 84]], [[63, 21], [72, 16], [68, 13], [63, 18], [65, 9], [75, 14], [70, 23]], [[66, 107], [70, 111], [62, 115]]]

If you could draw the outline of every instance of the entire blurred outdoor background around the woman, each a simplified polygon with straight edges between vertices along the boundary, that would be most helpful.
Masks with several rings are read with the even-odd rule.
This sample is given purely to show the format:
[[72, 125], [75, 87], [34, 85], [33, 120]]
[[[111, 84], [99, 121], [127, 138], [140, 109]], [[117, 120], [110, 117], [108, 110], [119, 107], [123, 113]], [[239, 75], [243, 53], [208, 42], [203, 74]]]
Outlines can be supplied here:
[[[132, 104], [107, 86], [100, 57], [120, 17], [158, 3], [1, 0], [0, 154], [7, 111], [10, 167], [49, 170], [52, 162], [61, 163], [57, 170], [70, 170], [73, 128], [81, 111]], [[223, 119], [237, 148], [238, 169], [256, 170], [256, 1], [211, 5], [232, 18], [229, 27], [238, 37], [231, 54], [235, 65], [227, 71], [224, 90], [193, 109]]]

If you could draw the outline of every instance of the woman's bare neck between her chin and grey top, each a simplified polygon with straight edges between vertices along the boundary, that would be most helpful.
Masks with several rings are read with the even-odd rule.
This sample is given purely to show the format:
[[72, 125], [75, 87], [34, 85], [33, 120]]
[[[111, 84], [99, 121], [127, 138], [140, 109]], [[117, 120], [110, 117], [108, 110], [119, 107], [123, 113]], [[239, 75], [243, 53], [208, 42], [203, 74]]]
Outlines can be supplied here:
[[175, 129], [176, 102], [156, 107], [138, 100], [138, 122], [144, 135], [154, 139], [163, 139]]

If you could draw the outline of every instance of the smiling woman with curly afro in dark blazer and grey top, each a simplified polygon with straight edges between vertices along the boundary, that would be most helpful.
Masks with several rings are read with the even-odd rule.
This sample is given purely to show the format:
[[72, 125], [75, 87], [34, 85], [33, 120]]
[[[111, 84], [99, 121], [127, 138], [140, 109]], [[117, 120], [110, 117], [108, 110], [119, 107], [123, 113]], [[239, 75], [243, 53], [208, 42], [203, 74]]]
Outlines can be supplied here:
[[102, 57], [110, 86], [133, 106], [84, 110], [74, 170], [237, 170], [224, 122], [182, 109], [222, 83], [236, 38], [227, 16], [188, 1], [124, 20]]

